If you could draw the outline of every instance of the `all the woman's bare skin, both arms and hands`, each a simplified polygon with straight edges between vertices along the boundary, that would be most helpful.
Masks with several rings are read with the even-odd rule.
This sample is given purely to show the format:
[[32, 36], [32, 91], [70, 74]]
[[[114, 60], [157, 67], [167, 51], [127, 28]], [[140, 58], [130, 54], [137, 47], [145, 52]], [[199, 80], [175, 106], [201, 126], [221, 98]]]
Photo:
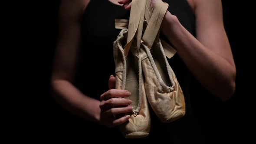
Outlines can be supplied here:
[[[109, 0], [131, 8], [131, 0]], [[115, 89], [115, 77], [109, 78], [109, 90], [101, 101], [80, 92], [72, 83], [80, 42], [80, 24], [89, 0], [62, 0], [59, 11], [59, 39], [52, 75], [54, 97], [67, 110], [89, 121], [113, 127], [128, 121], [129, 115], [115, 119], [113, 115], [129, 112], [130, 92]], [[151, 0], [154, 8], [155, 0]], [[188, 0], [196, 16], [196, 33], [192, 36], [169, 11], [164, 16], [161, 32], [174, 44], [177, 54], [195, 78], [220, 100], [228, 100], [235, 90], [236, 67], [230, 43], [223, 26], [221, 0]]]

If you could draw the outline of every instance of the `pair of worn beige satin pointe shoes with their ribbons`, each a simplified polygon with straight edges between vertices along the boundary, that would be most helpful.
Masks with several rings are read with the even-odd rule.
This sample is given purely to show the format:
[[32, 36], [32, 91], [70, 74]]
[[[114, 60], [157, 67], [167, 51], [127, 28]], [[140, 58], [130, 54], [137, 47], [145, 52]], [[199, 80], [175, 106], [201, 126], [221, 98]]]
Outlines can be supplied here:
[[130, 20], [115, 21], [115, 27], [122, 29], [113, 46], [116, 88], [131, 92], [128, 98], [133, 107], [132, 113], [126, 114], [131, 118], [119, 126], [126, 138], [146, 137], [150, 133], [148, 102], [163, 122], [185, 114], [183, 92], [165, 56], [171, 58], [176, 51], [159, 39], [167, 7], [167, 3], [157, 0], [153, 11], [151, 0], [132, 0]]

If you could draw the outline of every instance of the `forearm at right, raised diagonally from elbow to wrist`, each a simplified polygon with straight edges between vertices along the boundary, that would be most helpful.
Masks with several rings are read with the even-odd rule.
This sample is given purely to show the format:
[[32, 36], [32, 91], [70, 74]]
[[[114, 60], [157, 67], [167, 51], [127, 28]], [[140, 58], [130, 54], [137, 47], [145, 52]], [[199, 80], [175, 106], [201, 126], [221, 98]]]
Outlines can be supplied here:
[[213, 95], [226, 99], [233, 94], [235, 69], [226, 59], [203, 46], [168, 11], [161, 31], [174, 45], [194, 76]]

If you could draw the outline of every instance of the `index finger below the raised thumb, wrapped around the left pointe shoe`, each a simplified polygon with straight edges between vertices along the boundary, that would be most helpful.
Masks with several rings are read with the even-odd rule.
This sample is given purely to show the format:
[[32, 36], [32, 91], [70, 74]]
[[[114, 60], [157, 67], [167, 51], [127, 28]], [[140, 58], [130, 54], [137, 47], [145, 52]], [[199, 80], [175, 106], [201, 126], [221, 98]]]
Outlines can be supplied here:
[[115, 98], [115, 97], [128, 97], [131, 95], [131, 92], [126, 91], [126, 90], [121, 90], [121, 89], [110, 89], [104, 94], [100, 96], [101, 100], [108, 100], [110, 98]]

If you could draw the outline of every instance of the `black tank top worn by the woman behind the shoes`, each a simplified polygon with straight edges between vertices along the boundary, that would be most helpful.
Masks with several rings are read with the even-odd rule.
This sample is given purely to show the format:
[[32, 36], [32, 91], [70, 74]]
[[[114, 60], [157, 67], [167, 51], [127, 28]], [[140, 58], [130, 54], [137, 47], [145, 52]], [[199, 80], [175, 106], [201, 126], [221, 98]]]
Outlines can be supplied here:
[[[195, 36], [195, 15], [187, 0], [163, 0], [168, 10]], [[120, 29], [115, 29], [115, 19], [129, 19], [129, 11], [108, 0], [91, 0], [82, 18], [81, 49], [75, 85], [92, 98], [108, 90], [108, 79], [114, 75], [113, 42]], [[166, 39], [163, 35], [161, 38]], [[166, 40], [167, 41], [167, 40]], [[216, 135], [214, 116], [218, 100], [207, 92], [187, 69], [178, 54], [168, 60], [184, 91], [186, 115], [169, 124], [162, 124], [151, 110], [151, 132], [146, 138], [128, 142], [168, 141], [170, 144], [207, 144]], [[122, 138], [117, 128], [90, 125], [87, 131], [97, 131], [102, 139], [115, 142]], [[97, 129], [97, 130], [95, 130]], [[85, 136], [86, 137], [86, 136]], [[124, 141], [122, 141], [124, 142]]]

